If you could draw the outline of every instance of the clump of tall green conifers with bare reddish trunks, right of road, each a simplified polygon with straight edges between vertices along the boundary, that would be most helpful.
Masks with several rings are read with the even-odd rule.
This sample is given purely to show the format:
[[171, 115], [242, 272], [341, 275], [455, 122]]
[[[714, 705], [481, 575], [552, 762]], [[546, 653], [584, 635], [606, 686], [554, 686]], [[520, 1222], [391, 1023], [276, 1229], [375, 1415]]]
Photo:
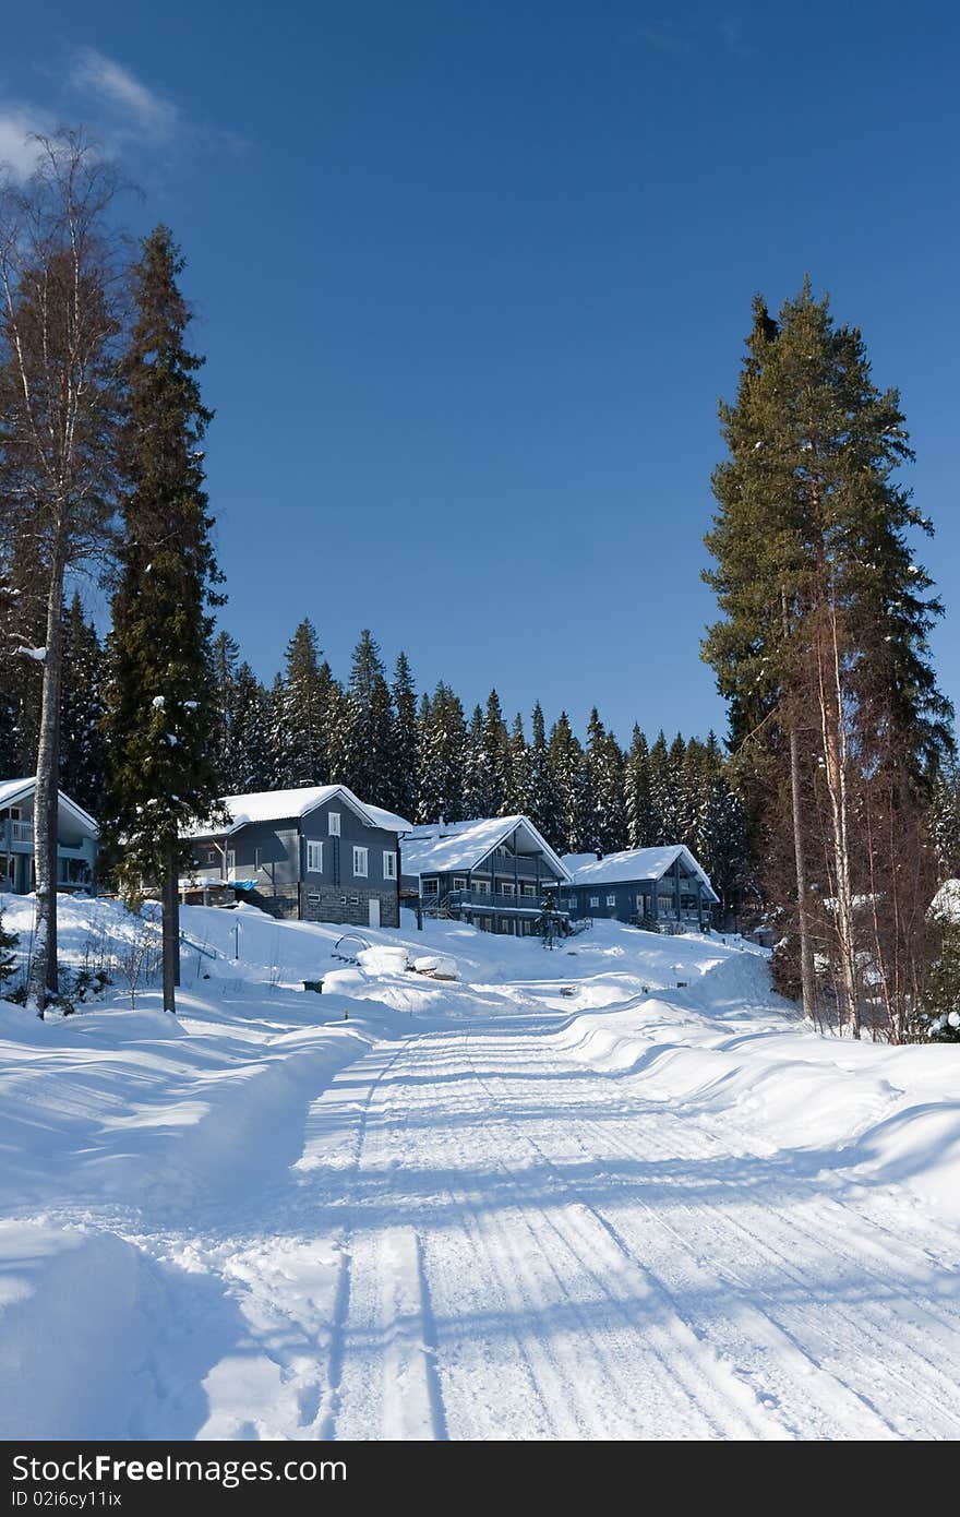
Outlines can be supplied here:
[[[858, 1036], [878, 991], [896, 1036], [924, 951], [904, 924], [928, 889], [915, 871], [908, 901], [899, 865], [925, 853], [924, 790], [951, 745], [928, 652], [940, 605], [908, 539], [930, 523], [898, 482], [911, 458], [899, 397], [874, 385], [860, 332], [836, 326], [807, 282], [775, 322], [755, 302], [737, 402], [720, 417], [729, 457], [714, 473], [707, 579], [722, 619], [704, 654], [734, 749], [766, 790], [772, 868], [790, 839], [781, 901], [804, 1007], [817, 1012], [816, 950], [842, 1024]], [[890, 998], [892, 983], [905, 989]]]

